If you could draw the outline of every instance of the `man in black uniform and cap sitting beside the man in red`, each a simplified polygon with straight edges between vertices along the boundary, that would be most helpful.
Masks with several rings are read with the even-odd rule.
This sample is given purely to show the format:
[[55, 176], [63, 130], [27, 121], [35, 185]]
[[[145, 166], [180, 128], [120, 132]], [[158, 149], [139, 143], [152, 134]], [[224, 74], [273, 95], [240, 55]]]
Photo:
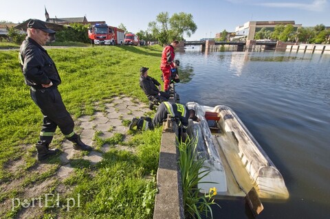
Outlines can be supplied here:
[[148, 68], [142, 67], [140, 73], [140, 87], [146, 94], [146, 97], [148, 97], [149, 108], [152, 110], [155, 102], [167, 101], [170, 95], [166, 92], [159, 91], [161, 86], [155, 78], [148, 76]]

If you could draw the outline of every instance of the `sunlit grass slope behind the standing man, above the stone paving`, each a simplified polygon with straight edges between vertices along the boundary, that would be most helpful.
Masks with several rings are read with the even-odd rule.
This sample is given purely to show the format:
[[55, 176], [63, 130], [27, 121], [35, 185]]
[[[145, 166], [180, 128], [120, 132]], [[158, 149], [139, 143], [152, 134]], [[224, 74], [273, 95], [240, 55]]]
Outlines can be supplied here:
[[[63, 81], [59, 90], [67, 110], [74, 117], [92, 115], [95, 102], [117, 95], [147, 102], [138, 84], [139, 71], [144, 65], [151, 68], [151, 76], [159, 76], [161, 48], [156, 48], [48, 49]], [[17, 51], [0, 51], [0, 167], [22, 157], [23, 145], [35, 142], [41, 126], [41, 112], [30, 98], [17, 56]]]

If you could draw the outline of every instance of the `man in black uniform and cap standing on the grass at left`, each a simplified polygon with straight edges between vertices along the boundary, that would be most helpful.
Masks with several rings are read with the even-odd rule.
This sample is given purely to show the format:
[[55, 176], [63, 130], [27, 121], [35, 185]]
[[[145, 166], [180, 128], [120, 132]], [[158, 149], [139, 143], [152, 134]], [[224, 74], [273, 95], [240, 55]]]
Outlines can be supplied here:
[[57, 126], [63, 135], [74, 143], [75, 150], [92, 150], [74, 132], [74, 120], [67, 112], [58, 92], [57, 87], [61, 84], [61, 78], [52, 58], [42, 47], [50, 38], [49, 34], [55, 34], [54, 30], [48, 29], [43, 21], [32, 19], [28, 23], [28, 36], [19, 51], [25, 84], [30, 86], [32, 100], [43, 113], [40, 140], [36, 143], [39, 160], [58, 152], [49, 148]]

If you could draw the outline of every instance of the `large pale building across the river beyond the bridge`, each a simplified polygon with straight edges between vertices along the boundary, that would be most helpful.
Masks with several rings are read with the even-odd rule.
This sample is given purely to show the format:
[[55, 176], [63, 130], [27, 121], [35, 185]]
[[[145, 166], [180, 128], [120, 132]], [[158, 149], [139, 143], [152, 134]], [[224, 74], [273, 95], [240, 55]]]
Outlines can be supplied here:
[[273, 32], [276, 25], [287, 24], [293, 25], [295, 30], [302, 26], [301, 24], [296, 24], [294, 21], [248, 21], [244, 25], [236, 27], [235, 33], [236, 36], [243, 36], [246, 40], [253, 40], [254, 34], [262, 28]]

